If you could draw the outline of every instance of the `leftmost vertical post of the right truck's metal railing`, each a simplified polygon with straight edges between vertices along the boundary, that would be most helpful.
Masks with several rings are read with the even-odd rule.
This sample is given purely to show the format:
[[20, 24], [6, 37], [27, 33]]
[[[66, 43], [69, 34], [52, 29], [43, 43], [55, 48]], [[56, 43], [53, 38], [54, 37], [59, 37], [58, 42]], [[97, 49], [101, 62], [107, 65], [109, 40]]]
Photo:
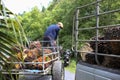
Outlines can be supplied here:
[[78, 26], [79, 26], [79, 20], [78, 17], [79, 16], [79, 9], [77, 9], [76, 11], [76, 15], [75, 15], [75, 56], [77, 58], [77, 48], [78, 48]]

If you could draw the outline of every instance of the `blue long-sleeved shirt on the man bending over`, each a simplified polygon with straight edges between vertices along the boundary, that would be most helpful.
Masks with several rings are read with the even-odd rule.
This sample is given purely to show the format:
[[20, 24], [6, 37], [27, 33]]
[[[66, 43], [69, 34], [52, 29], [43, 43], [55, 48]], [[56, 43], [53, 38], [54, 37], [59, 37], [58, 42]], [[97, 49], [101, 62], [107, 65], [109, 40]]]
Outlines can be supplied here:
[[60, 30], [60, 27], [57, 24], [50, 25], [45, 31], [44, 36], [50, 37], [51, 39], [56, 40], [59, 34], [59, 30]]

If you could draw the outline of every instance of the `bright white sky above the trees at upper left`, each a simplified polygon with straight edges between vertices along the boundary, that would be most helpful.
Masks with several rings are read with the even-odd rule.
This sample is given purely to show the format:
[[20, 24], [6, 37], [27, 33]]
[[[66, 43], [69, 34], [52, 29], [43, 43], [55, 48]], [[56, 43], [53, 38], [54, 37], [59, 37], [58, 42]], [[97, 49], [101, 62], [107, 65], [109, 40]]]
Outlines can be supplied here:
[[34, 6], [41, 9], [42, 6], [48, 7], [52, 0], [2, 0], [4, 5], [13, 13], [23, 13], [30, 11]]

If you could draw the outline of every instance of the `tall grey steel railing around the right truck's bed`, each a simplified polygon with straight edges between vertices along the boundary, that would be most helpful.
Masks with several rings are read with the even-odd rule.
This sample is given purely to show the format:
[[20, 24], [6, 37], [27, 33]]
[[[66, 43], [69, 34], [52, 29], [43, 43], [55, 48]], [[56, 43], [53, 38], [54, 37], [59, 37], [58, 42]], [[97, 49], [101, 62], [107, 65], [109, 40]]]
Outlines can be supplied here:
[[[79, 42], [95, 42], [95, 60], [96, 62], [99, 64], [99, 61], [97, 59], [97, 55], [102, 55], [102, 56], [111, 56], [111, 57], [120, 57], [119, 55], [115, 55], [115, 54], [104, 54], [104, 53], [98, 53], [98, 42], [120, 42], [120, 40], [99, 40], [98, 39], [98, 35], [99, 35], [99, 29], [102, 29], [102, 28], [110, 28], [110, 27], [120, 27], [120, 24], [113, 24], [113, 25], [105, 25], [105, 26], [100, 26], [100, 17], [102, 15], [105, 15], [105, 14], [112, 14], [112, 13], [115, 13], [115, 12], [120, 12], [120, 8], [118, 9], [115, 9], [115, 10], [111, 10], [111, 11], [105, 11], [105, 12], [102, 12], [100, 13], [100, 2], [102, 2], [103, 0], [96, 0], [92, 3], [89, 3], [89, 4], [85, 4], [81, 7], [77, 7], [76, 11], [75, 11], [75, 16], [74, 16], [74, 20], [73, 20], [73, 34], [74, 34], [74, 47], [75, 47], [75, 53], [76, 53], [76, 57], [77, 57], [77, 54], [79, 51], [78, 49], [78, 44]], [[85, 9], [86, 7], [90, 7], [90, 6], [95, 6], [96, 10], [95, 10], [95, 14], [92, 14], [92, 15], [87, 15], [87, 16], [80, 16], [80, 10], [81, 9]], [[88, 18], [95, 18], [96, 19], [96, 26], [95, 27], [87, 27], [87, 28], [79, 28], [79, 23], [80, 23], [80, 20], [84, 20], [84, 19], [88, 19]], [[96, 39], [95, 40], [86, 40], [86, 39], [79, 39], [79, 32], [80, 31], [85, 31], [85, 30], [94, 30], [96, 33], [95, 36]], [[89, 53], [89, 52], [88, 52]], [[93, 53], [89, 53], [89, 54], [93, 54]]]

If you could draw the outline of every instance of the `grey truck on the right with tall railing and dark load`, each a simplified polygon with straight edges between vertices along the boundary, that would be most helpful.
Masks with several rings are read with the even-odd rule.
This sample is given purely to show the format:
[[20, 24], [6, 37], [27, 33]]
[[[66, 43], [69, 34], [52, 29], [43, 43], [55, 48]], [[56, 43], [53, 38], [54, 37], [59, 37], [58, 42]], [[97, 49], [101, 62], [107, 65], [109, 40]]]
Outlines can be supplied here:
[[[95, 0], [75, 10], [75, 80], [120, 80], [119, 2]], [[114, 17], [113, 17], [114, 16]], [[120, 15], [119, 15], [120, 16]]]

